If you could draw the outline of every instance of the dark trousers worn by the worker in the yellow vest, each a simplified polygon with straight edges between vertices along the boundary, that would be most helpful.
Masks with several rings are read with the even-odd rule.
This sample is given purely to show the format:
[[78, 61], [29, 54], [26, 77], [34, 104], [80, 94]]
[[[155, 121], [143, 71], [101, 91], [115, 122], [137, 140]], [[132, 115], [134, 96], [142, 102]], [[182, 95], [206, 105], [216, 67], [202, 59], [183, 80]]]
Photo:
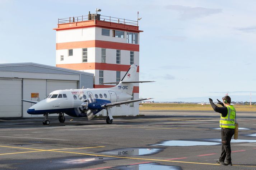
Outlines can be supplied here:
[[230, 141], [234, 133], [235, 133], [235, 129], [221, 128], [222, 151], [219, 158], [220, 162], [224, 162], [225, 159], [227, 163], [231, 162]]

